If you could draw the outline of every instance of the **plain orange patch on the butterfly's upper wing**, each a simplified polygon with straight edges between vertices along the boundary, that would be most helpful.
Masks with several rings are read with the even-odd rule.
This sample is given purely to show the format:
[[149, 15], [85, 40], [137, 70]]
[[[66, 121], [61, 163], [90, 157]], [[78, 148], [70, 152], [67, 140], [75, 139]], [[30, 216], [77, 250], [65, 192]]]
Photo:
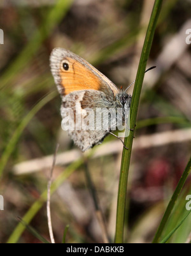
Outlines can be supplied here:
[[64, 70], [62, 63], [60, 64], [60, 85], [64, 87], [64, 94], [72, 93], [73, 91], [80, 91], [85, 89], [99, 90], [101, 88], [101, 80], [88, 70], [80, 62], [70, 58], [65, 58], [69, 63], [69, 69]]

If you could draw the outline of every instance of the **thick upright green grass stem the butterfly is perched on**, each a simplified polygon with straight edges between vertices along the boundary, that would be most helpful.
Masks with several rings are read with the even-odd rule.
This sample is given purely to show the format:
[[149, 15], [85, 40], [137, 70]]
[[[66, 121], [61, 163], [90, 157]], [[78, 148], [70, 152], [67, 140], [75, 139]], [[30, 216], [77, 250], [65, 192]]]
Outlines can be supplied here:
[[[139, 61], [138, 73], [136, 75], [136, 82], [134, 91], [132, 94], [131, 110], [130, 110], [130, 127], [134, 128], [136, 124], [136, 116], [138, 114], [139, 98], [141, 94], [141, 87], [143, 84], [143, 78], [146, 70], [146, 62], [150, 54], [152, 47], [153, 36], [155, 28], [157, 26], [157, 20], [159, 18], [160, 9], [162, 6], [162, 0], [155, 0], [148, 29], [146, 31], [145, 42]], [[127, 133], [127, 131], [126, 131]], [[129, 174], [129, 165], [131, 159], [132, 140], [134, 132], [130, 131], [130, 135], [125, 137], [125, 146], [128, 148], [123, 150], [122, 163], [120, 170], [120, 180], [118, 187], [118, 202], [117, 202], [117, 218], [116, 218], [116, 231], [115, 231], [115, 243], [124, 243], [124, 220], [125, 220], [125, 201], [127, 194], [127, 179]]]

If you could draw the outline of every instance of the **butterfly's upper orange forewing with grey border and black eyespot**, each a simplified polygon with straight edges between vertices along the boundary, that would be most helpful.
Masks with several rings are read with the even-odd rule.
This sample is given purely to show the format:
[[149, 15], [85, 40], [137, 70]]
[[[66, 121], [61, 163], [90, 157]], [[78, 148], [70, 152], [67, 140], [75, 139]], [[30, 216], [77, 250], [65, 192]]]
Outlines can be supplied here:
[[61, 96], [93, 89], [114, 98], [118, 88], [90, 63], [69, 50], [55, 48], [50, 56], [51, 71]]

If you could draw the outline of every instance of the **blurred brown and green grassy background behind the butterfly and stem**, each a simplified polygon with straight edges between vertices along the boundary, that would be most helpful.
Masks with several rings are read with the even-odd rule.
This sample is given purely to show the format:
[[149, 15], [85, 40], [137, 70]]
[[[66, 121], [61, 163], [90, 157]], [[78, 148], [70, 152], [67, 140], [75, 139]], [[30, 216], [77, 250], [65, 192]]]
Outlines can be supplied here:
[[[110, 135], [87, 154], [73, 145], [61, 130], [49, 56], [54, 47], [69, 49], [125, 89], [136, 77], [153, 3], [0, 1], [0, 243], [41, 243], [18, 217], [50, 241], [45, 195], [57, 143], [55, 242], [61, 243], [66, 225], [67, 243], [113, 241], [122, 144]], [[164, 1], [155, 31], [147, 68], [157, 68], [145, 74], [129, 170], [128, 243], [152, 241], [190, 158], [190, 13], [190, 0]], [[180, 220], [189, 189], [188, 178], [169, 230]], [[187, 241], [190, 222], [169, 242]]]

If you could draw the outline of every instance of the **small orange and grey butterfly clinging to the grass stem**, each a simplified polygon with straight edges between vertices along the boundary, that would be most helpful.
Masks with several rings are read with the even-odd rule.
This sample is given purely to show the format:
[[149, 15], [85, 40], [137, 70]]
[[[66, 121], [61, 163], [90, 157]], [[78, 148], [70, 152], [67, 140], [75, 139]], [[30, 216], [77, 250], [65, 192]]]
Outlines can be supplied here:
[[62, 48], [52, 50], [50, 67], [62, 98], [62, 129], [81, 151], [100, 144], [116, 128], [124, 130], [131, 105], [128, 87], [118, 89], [90, 63]]

